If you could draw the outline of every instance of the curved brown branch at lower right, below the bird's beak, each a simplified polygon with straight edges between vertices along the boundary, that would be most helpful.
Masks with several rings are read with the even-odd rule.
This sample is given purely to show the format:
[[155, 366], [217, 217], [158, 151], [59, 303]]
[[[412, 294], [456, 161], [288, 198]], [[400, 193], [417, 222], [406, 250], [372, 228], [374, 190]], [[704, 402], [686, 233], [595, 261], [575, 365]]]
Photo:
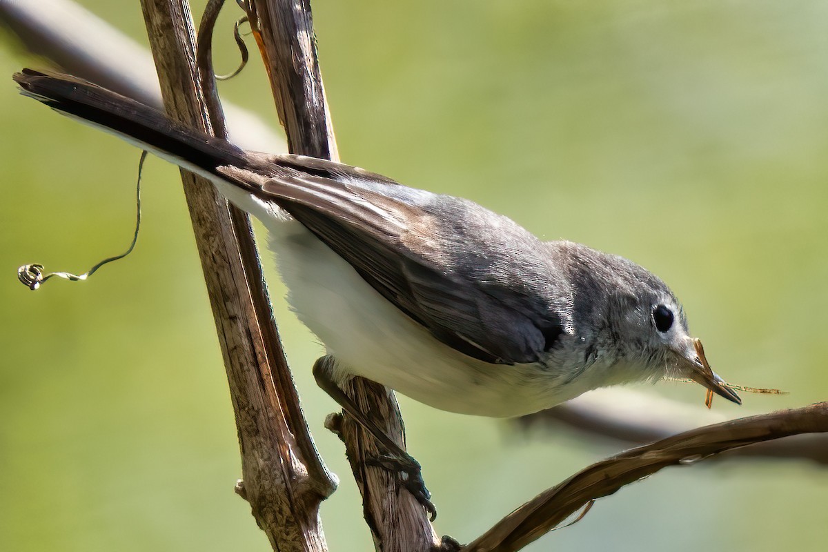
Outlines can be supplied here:
[[828, 432], [828, 402], [707, 425], [592, 464], [498, 521], [465, 552], [512, 552], [575, 511], [662, 468], [696, 463], [726, 450], [795, 434]]

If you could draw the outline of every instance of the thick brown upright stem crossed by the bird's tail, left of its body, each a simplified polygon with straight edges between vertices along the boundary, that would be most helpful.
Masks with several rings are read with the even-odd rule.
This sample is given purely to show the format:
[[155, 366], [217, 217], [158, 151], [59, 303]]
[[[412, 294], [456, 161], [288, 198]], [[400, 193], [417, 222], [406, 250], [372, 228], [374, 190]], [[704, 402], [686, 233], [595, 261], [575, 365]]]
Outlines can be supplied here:
[[[142, 0], [166, 112], [210, 132], [184, 0]], [[218, 108], [214, 106], [214, 113]], [[335, 483], [301, 416], [247, 215], [182, 171], [236, 415], [248, 500], [274, 550], [326, 550], [319, 503]]]

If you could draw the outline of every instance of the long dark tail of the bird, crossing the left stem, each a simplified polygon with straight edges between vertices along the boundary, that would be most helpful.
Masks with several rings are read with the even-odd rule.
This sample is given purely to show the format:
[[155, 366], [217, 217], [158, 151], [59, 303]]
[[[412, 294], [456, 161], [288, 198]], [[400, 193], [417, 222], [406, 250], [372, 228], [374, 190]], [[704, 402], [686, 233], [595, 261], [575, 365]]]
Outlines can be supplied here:
[[217, 166], [246, 165], [247, 154], [237, 146], [210, 137], [164, 113], [65, 74], [24, 69], [12, 77], [21, 93], [58, 113], [114, 134], [167, 161], [201, 175], [215, 175]]

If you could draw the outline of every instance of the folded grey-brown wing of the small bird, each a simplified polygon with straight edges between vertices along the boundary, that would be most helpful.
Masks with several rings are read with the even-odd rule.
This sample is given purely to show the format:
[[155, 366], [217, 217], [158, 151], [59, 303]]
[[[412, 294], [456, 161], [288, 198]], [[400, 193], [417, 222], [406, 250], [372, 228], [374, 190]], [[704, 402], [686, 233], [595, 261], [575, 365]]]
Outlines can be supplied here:
[[[426, 208], [434, 194], [383, 176], [305, 157], [270, 161], [277, 169], [262, 184], [262, 199], [286, 209], [442, 343], [484, 362], [513, 364], [536, 362], [560, 337], [561, 321], [548, 315], [542, 301], [490, 277], [490, 268], [503, 259], [469, 264], [466, 252], [474, 244], [462, 242], [498, 228], [474, 228], [471, 237], [455, 227], [468, 218], [468, 205], [483, 208], [440, 196], [443, 204], [454, 202], [448, 218], [458, 215], [445, 219]], [[503, 276], [502, 266], [498, 274]]]

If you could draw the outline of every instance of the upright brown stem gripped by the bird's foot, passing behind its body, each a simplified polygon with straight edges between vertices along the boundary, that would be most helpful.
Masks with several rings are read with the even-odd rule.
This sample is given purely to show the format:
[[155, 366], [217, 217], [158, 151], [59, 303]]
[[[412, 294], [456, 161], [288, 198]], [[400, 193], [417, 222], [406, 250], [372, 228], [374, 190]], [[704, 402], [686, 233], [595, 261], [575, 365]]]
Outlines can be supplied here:
[[[258, 42], [291, 153], [339, 161], [325, 87], [316, 56], [310, 0], [251, 0], [248, 18]], [[402, 417], [393, 392], [355, 378], [344, 391], [370, 412], [404, 448]], [[349, 416], [336, 430], [363, 494], [363, 511], [378, 550], [429, 550], [439, 544], [426, 512], [381, 468], [367, 468], [377, 454], [373, 438]]]

